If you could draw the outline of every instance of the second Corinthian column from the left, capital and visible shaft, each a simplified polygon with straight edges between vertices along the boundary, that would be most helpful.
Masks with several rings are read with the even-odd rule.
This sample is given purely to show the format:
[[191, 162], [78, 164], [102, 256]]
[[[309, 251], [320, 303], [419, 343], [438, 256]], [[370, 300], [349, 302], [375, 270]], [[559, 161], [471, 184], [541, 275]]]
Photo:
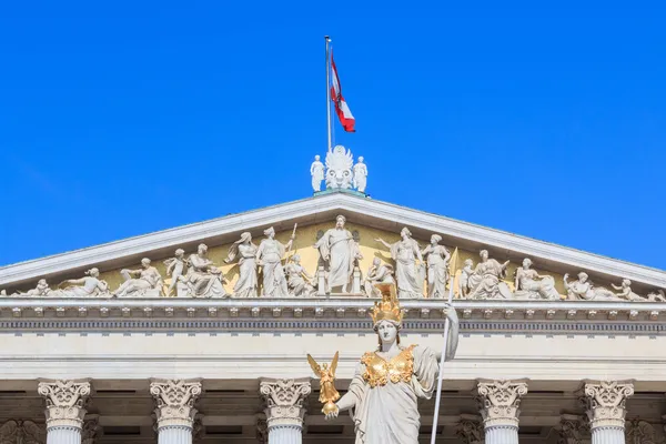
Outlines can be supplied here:
[[157, 403], [158, 444], [192, 444], [201, 380], [151, 380]]

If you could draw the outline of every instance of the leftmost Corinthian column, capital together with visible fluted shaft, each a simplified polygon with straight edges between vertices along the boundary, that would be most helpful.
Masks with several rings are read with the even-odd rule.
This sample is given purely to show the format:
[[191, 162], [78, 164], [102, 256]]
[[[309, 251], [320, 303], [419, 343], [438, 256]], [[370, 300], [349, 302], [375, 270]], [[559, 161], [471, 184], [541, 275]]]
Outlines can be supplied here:
[[47, 444], [81, 444], [90, 380], [40, 380], [37, 391], [47, 400]]

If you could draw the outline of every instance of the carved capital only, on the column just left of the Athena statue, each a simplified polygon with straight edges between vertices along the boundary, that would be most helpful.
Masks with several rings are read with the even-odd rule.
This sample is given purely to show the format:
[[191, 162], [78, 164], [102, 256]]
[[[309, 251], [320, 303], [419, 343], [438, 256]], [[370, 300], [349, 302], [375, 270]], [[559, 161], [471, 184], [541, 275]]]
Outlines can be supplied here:
[[266, 422], [269, 428], [278, 425], [303, 426], [305, 407], [303, 403], [312, 392], [310, 379], [273, 380], [264, 379], [260, 393], [266, 402]]

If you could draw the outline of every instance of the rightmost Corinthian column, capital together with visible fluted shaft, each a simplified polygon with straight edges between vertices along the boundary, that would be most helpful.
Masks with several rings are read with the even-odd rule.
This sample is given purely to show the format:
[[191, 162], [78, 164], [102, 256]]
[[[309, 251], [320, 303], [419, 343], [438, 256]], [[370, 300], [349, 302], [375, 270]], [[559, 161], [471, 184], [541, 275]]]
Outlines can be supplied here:
[[625, 403], [634, 394], [630, 381], [585, 383], [583, 401], [592, 431], [592, 444], [625, 443]]

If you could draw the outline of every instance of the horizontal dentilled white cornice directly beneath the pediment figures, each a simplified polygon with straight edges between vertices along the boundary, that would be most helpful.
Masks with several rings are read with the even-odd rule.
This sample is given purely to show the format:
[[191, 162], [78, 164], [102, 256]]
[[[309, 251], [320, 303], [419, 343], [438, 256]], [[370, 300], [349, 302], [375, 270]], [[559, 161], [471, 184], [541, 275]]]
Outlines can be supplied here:
[[[369, 299], [2, 299], [0, 330], [343, 329], [367, 330]], [[474, 331], [660, 332], [666, 304], [632, 302], [455, 301], [461, 329]], [[442, 330], [443, 300], [406, 300], [407, 331]], [[11, 319], [11, 320], [9, 320]], [[19, 322], [22, 320], [24, 322]], [[72, 321], [77, 321], [72, 323]], [[585, 326], [587, 325], [587, 326]], [[627, 327], [627, 325], [629, 327]], [[635, 326], [632, 326], [635, 325]], [[649, 325], [657, 325], [655, 327]], [[624, 330], [623, 330], [624, 329]]]

